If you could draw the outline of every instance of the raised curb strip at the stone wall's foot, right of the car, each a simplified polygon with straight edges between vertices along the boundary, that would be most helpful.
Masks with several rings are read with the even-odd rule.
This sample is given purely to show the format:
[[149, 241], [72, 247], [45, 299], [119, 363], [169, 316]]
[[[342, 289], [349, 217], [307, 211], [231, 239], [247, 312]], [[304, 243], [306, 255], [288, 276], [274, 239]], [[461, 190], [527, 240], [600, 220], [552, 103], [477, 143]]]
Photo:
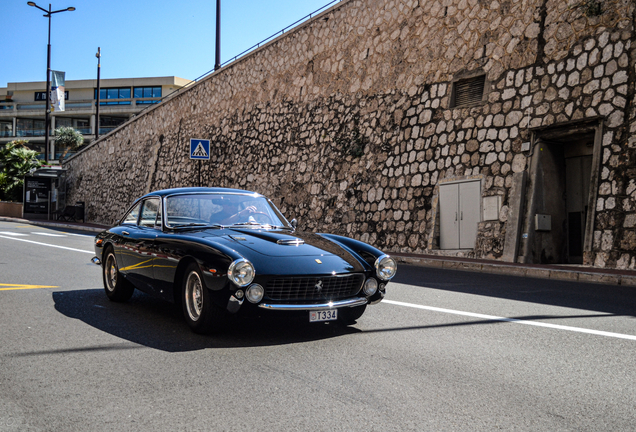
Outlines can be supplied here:
[[438, 268], [444, 270], [459, 270], [475, 273], [502, 274], [508, 276], [531, 277], [537, 279], [554, 279], [581, 283], [596, 283], [604, 285], [623, 285], [636, 287], [636, 274], [616, 274], [612, 272], [585, 270], [557, 270], [552, 268], [525, 267], [521, 265], [502, 265], [470, 261], [455, 261], [452, 259], [432, 259], [426, 257], [408, 257], [392, 255], [398, 263], [416, 265], [420, 267]]

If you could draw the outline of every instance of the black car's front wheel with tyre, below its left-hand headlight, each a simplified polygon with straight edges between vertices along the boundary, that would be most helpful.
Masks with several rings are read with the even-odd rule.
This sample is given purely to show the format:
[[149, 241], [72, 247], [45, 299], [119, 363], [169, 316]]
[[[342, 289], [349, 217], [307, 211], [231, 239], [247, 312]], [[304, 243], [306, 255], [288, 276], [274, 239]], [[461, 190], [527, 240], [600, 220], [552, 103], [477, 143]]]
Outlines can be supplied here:
[[225, 311], [212, 301], [201, 270], [191, 263], [185, 271], [181, 286], [183, 316], [190, 329], [199, 334], [209, 334], [223, 328]]

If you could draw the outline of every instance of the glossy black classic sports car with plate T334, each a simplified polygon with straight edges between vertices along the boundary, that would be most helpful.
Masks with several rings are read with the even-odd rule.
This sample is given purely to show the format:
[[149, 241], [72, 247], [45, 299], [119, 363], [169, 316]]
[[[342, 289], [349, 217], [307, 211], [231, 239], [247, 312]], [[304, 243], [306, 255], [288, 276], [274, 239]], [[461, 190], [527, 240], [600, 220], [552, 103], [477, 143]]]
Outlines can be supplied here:
[[95, 237], [95, 252], [109, 299], [126, 301], [137, 288], [181, 304], [198, 333], [230, 313], [265, 310], [351, 324], [384, 298], [397, 270], [366, 243], [298, 232], [263, 195], [222, 188], [139, 198]]

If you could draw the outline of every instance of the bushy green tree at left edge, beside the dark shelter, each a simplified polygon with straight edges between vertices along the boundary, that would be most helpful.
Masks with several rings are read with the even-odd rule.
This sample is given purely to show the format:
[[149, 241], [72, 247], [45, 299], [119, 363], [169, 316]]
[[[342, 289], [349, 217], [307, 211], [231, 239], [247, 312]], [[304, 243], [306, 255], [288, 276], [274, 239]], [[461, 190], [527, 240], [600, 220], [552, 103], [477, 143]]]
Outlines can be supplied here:
[[15, 140], [0, 148], [0, 200], [22, 202], [24, 176], [42, 166], [38, 152]]

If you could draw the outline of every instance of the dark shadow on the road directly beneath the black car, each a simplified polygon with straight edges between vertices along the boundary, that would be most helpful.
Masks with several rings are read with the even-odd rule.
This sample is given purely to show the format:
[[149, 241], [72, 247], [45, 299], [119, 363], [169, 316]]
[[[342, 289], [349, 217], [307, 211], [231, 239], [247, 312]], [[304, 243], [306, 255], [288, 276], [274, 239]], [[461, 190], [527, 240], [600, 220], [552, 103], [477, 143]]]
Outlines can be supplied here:
[[360, 332], [334, 323], [297, 317], [230, 317], [227, 329], [193, 333], [177, 306], [135, 291], [126, 303], [109, 301], [102, 289], [53, 293], [55, 309], [91, 327], [149, 348], [168, 352], [303, 343]]

